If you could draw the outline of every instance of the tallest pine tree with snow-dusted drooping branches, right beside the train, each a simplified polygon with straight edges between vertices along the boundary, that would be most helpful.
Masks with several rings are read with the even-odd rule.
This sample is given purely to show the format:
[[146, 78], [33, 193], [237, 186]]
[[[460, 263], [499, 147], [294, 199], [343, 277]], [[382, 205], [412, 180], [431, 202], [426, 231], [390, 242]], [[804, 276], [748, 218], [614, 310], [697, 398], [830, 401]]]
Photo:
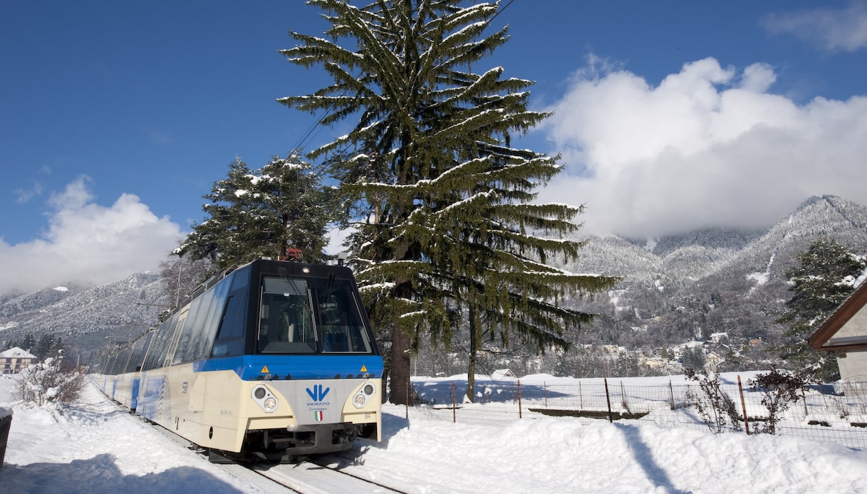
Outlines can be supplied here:
[[547, 264], [577, 256], [581, 244], [562, 237], [582, 208], [530, 204], [560, 170], [557, 158], [511, 147], [513, 133], [548, 116], [527, 109], [531, 81], [472, 71], [507, 40], [507, 28], [485, 34], [499, 3], [309, 3], [328, 12], [328, 38], [292, 32], [299, 44], [282, 53], [322, 65], [334, 84], [281, 101], [327, 111], [325, 125], [358, 118], [311, 157], [329, 160], [356, 222], [356, 277], [370, 315], [390, 328], [392, 402], [410, 395], [409, 354], [426, 332], [448, 343], [468, 329], [470, 400], [483, 338], [568, 346], [564, 331], [591, 315], [564, 300], [616, 280]]

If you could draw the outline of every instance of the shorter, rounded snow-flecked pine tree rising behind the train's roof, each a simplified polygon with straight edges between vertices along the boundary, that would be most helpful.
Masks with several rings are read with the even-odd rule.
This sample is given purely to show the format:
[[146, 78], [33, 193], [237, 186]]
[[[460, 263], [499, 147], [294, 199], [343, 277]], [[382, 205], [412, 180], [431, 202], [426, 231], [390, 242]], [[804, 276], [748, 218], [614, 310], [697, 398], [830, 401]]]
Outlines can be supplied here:
[[208, 218], [192, 226], [176, 253], [210, 258], [220, 270], [258, 257], [283, 258], [290, 248], [301, 249], [305, 261], [320, 262], [333, 214], [321, 184], [322, 177], [295, 154], [274, 157], [259, 170], [235, 159], [228, 176], [205, 195]]

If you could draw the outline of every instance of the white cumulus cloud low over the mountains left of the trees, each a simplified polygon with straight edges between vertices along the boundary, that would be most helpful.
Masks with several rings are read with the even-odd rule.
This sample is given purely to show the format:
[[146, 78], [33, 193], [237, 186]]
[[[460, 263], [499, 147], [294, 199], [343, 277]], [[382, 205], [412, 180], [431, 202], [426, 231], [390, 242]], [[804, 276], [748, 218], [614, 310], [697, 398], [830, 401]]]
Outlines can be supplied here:
[[68, 282], [109, 283], [157, 267], [183, 234], [157, 218], [132, 194], [114, 205], [95, 203], [81, 177], [49, 199], [46, 233], [10, 245], [0, 239], [0, 294], [29, 292]]

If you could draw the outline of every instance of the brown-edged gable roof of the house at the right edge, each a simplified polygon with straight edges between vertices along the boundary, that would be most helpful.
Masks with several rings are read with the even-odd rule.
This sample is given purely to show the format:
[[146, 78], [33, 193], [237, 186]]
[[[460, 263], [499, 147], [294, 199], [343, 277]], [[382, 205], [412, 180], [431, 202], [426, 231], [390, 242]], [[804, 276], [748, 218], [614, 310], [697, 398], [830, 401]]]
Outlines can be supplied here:
[[[862, 310], [865, 305], [867, 305], [867, 283], [861, 283], [807, 338], [807, 342], [817, 350], [867, 351], [867, 325], [864, 324], [867, 322], [867, 310]], [[844, 334], [838, 335], [849, 322], [852, 322], [850, 328], [847, 328]]]

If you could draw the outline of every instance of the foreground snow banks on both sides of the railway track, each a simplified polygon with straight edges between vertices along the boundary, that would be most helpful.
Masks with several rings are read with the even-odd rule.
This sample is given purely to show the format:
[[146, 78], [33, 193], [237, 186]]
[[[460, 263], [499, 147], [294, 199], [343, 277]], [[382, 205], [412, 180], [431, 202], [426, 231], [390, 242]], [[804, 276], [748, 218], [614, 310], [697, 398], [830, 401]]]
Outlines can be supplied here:
[[[18, 403], [3, 492], [261, 491], [123, 412], [88, 385], [58, 414]], [[534, 417], [474, 426], [385, 406], [384, 439], [342, 468], [408, 492], [867, 492], [867, 451], [807, 439], [646, 422]]]

